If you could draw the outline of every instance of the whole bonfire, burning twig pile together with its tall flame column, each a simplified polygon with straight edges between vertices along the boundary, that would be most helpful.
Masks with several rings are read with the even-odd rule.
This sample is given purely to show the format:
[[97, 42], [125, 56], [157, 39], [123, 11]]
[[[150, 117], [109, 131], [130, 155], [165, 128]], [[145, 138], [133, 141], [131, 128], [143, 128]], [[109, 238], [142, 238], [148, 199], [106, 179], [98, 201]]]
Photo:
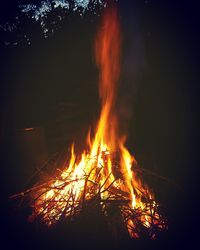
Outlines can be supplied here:
[[[49, 226], [62, 218], [73, 218], [95, 201], [105, 216], [117, 206], [131, 237], [139, 237], [139, 227], [165, 228], [154, 195], [136, 173], [137, 161], [125, 146], [126, 137], [118, 133], [115, 103], [120, 77], [121, 34], [117, 9], [107, 8], [95, 40], [96, 63], [100, 71], [101, 113], [92, 137], [88, 133], [86, 150], [71, 157], [63, 170], [49, 181], [31, 189], [31, 218], [40, 217]], [[96, 204], [93, 202], [94, 204]], [[139, 226], [140, 225], [140, 226]]]

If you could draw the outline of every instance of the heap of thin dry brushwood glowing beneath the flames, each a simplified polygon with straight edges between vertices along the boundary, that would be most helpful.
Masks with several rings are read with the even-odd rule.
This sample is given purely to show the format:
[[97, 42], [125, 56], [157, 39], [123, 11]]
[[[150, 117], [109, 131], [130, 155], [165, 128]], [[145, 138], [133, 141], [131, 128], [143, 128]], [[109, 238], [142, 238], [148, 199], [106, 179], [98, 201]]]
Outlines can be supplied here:
[[[116, 152], [109, 154], [113, 154], [115, 159], [113, 169], [118, 173], [120, 163], [116, 159]], [[166, 221], [160, 215], [159, 206], [145, 190], [135, 190], [136, 195], [142, 200], [142, 207], [133, 208], [130, 206], [128, 193], [120, 188], [120, 184], [123, 183], [122, 177], [117, 174], [118, 177], [110, 181], [111, 173], [108, 173], [100, 184], [104, 166], [97, 163], [97, 156], [88, 159], [86, 164], [91, 160], [94, 162], [93, 168], [81, 178], [72, 178], [72, 172], [63, 177], [61, 175], [63, 171], [56, 169], [49, 181], [39, 183], [11, 198], [22, 198], [26, 201], [26, 205], [28, 201], [28, 206], [32, 207], [29, 219], [41, 218], [49, 226], [55, 225], [58, 220], [73, 221], [84, 209], [101, 207], [101, 212], [107, 221], [112, 217], [110, 211], [113, 208], [120, 211], [131, 237], [138, 238], [141, 234], [148, 234], [151, 238], [155, 238], [157, 232], [166, 228]], [[137, 171], [137, 167], [135, 169]], [[77, 196], [75, 189], [79, 183], [84, 185]]]

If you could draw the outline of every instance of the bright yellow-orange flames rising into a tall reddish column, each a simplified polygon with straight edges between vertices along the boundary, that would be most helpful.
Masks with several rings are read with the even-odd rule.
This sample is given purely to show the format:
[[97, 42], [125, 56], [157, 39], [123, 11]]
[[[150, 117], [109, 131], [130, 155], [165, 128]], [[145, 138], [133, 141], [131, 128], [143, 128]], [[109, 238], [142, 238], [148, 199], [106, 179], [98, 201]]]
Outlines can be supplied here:
[[[74, 145], [72, 145], [70, 161], [61, 175], [56, 180], [49, 181], [48, 190], [46, 188], [40, 190], [40, 198], [35, 201], [34, 211], [35, 214], [42, 215], [43, 220], [49, 225], [59, 220], [62, 214], [65, 216], [76, 214], [80, 201], [91, 199], [100, 189], [101, 199], [106, 200], [110, 185], [118, 190], [116, 192], [123, 193], [130, 209], [141, 211], [145, 209], [142, 201], [143, 193], [146, 193], [149, 199], [153, 199], [153, 195], [142, 185], [132, 169], [137, 162], [125, 147], [125, 137], [118, 135], [115, 101], [120, 76], [120, 46], [118, 14], [115, 8], [108, 9], [104, 13], [101, 28], [95, 40], [102, 105], [96, 133], [92, 139], [89, 131], [87, 137], [89, 152], [84, 151], [80, 160], [76, 159]], [[117, 151], [120, 156], [118, 176], [115, 173], [116, 166], [113, 163], [112, 151]], [[94, 184], [99, 188], [94, 189]], [[126, 217], [127, 212], [123, 210], [123, 206], [121, 213]], [[140, 221], [145, 227], [150, 227], [151, 213], [150, 209], [145, 210], [145, 214], [140, 216]], [[131, 237], [138, 237], [132, 230], [136, 227], [134, 221], [128, 219], [126, 223]]]

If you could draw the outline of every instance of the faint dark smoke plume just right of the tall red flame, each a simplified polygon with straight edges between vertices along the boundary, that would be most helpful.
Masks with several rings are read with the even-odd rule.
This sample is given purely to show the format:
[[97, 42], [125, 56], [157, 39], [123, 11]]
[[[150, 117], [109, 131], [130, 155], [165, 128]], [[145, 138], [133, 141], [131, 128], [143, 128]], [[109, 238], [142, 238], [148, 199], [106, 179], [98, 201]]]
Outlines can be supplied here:
[[120, 1], [122, 29], [121, 82], [117, 109], [121, 131], [129, 130], [134, 116], [137, 89], [145, 68], [144, 39], [139, 5], [134, 1]]

